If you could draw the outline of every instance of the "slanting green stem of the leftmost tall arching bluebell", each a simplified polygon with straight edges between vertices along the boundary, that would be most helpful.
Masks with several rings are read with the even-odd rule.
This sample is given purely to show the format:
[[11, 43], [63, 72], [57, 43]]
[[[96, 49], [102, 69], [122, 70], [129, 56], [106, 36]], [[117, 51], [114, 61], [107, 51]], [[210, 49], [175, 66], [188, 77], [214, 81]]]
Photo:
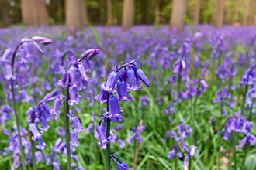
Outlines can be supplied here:
[[25, 164], [26, 155], [25, 155], [23, 147], [22, 147], [22, 140], [21, 140], [21, 134], [20, 134], [20, 128], [19, 128], [19, 117], [17, 114], [16, 98], [15, 98], [15, 94], [14, 94], [14, 84], [13, 84], [12, 79], [11, 79], [11, 91], [12, 91], [13, 110], [14, 110], [14, 115], [15, 115], [15, 119], [16, 119], [16, 127], [17, 127], [18, 138], [19, 138], [19, 150], [20, 150], [19, 154], [20, 154], [21, 161], [22, 161], [22, 169], [26, 170], [26, 164]]

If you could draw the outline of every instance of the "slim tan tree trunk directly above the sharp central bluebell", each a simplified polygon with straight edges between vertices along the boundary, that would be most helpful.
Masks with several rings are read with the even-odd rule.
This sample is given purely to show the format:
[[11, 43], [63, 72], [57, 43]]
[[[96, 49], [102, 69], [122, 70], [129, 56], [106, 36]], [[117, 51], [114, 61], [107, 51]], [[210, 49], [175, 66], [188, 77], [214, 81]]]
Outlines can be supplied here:
[[123, 0], [122, 29], [127, 31], [133, 26], [134, 0]]

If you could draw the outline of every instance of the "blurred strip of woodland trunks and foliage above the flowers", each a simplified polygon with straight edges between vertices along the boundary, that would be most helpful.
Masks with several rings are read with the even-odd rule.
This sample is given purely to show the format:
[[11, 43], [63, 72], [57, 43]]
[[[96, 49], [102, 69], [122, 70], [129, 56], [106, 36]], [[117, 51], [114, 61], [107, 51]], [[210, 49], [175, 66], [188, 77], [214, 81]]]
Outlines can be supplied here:
[[256, 25], [256, 0], [0, 0], [0, 26]]

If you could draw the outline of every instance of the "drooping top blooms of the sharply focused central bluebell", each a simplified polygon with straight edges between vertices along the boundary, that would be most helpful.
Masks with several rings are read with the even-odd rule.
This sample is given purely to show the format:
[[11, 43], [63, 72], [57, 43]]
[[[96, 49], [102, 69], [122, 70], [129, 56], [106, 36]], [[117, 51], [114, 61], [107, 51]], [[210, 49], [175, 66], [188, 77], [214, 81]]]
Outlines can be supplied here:
[[101, 83], [99, 95], [95, 97], [95, 100], [99, 100], [101, 104], [108, 104], [108, 110], [103, 116], [110, 118], [111, 121], [121, 122], [123, 110], [120, 110], [119, 100], [131, 100], [128, 91], [139, 90], [142, 82], [150, 87], [147, 76], [138, 67], [137, 62], [132, 61], [120, 67], [116, 66], [106, 82]]

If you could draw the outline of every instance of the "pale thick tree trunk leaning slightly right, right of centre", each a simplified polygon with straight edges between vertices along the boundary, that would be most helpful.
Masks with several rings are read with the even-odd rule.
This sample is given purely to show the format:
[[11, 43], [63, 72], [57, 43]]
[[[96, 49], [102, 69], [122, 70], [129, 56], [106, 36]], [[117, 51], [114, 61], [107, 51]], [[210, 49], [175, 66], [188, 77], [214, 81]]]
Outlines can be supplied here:
[[186, 0], [172, 1], [169, 29], [171, 29], [172, 27], [176, 27], [178, 31], [182, 30], [184, 25], [186, 6], [187, 6]]

